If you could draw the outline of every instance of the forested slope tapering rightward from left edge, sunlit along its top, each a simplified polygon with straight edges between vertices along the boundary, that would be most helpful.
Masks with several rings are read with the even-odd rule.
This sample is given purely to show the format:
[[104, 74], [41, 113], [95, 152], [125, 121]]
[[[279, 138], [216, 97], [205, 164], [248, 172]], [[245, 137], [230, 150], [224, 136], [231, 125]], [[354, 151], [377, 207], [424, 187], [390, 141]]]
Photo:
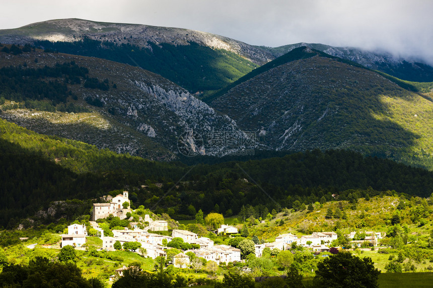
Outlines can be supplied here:
[[[0, 226], [18, 225], [51, 201], [93, 199], [183, 168], [46, 136], [0, 120]], [[74, 208], [75, 209], [75, 208]], [[52, 220], [52, 219], [45, 219]], [[55, 221], [55, 220], [52, 220]]]

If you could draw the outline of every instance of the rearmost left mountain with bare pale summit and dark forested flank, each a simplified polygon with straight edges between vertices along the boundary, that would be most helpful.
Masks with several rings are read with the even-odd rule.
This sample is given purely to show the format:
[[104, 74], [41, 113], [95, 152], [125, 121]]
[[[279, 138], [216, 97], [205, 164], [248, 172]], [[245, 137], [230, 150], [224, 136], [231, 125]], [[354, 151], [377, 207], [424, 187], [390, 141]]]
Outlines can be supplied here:
[[210, 33], [81, 19], [0, 30], [0, 41], [139, 66], [197, 95], [220, 89], [274, 58], [260, 48]]

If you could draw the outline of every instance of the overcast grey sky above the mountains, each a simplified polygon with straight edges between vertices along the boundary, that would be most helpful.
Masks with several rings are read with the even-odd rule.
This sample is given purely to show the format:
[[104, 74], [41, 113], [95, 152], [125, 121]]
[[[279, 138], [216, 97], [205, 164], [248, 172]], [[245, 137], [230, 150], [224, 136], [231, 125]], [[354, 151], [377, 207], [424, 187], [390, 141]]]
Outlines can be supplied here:
[[179, 27], [252, 45], [384, 49], [433, 63], [433, 0], [1, 0], [0, 29], [81, 18]]

